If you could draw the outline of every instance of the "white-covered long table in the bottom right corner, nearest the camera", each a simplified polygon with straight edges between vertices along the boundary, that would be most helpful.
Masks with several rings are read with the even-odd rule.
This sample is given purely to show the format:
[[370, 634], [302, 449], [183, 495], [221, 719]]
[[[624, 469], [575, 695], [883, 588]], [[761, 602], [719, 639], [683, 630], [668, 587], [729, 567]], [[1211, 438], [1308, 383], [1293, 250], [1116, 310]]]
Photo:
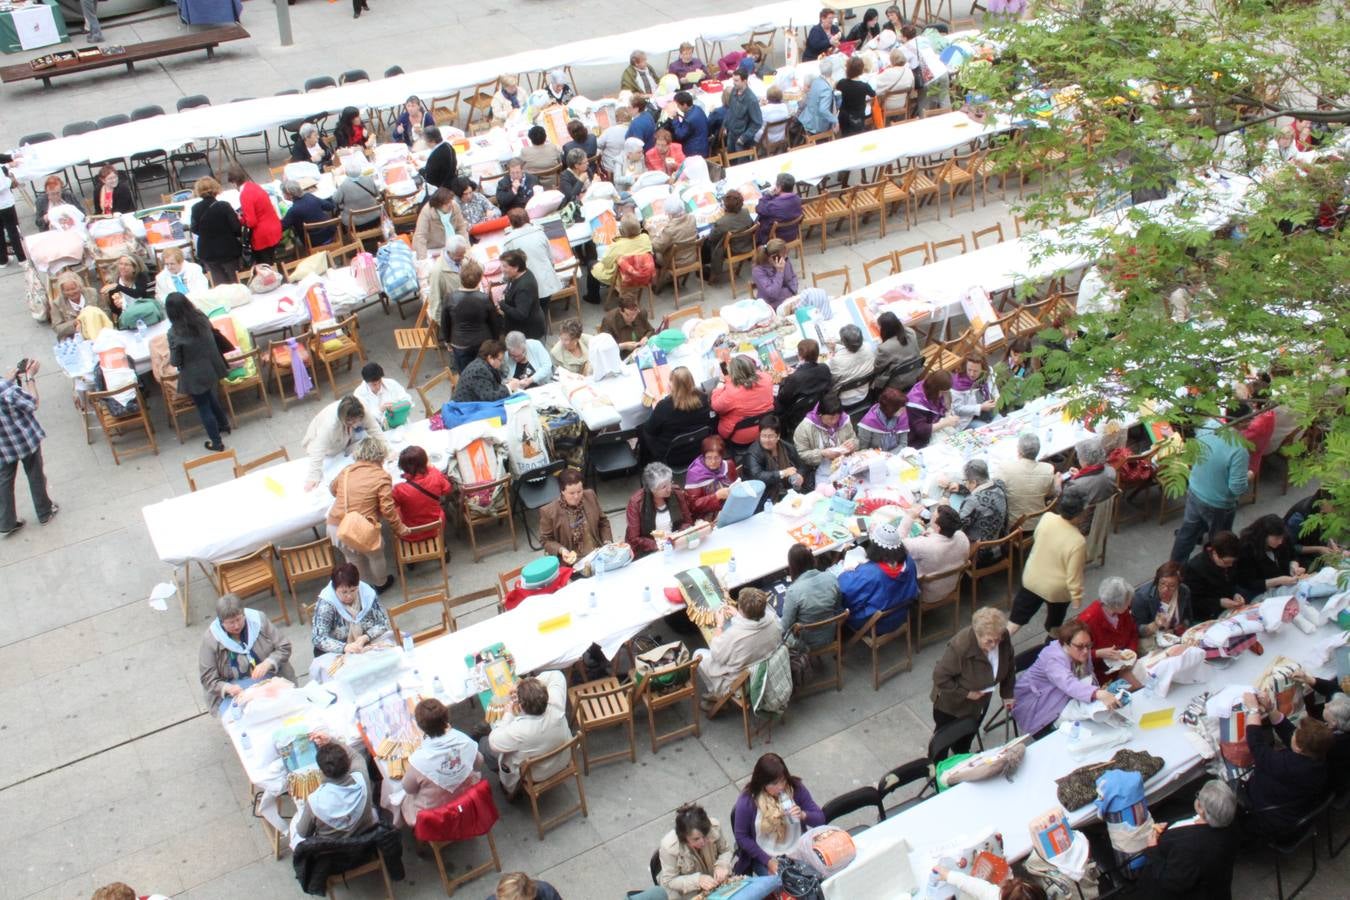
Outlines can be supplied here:
[[[1203, 691], [1215, 691], [1228, 684], [1253, 684], [1261, 672], [1277, 656], [1288, 656], [1310, 672], [1330, 675], [1330, 667], [1320, 658], [1319, 642], [1330, 638], [1334, 626], [1323, 626], [1314, 634], [1303, 634], [1292, 625], [1285, 625], [1274, 634], [1261, 637], [1265, 654], [1243, 653], [1228, 668], [1207, 665], [1208, 680], [1200, 684], [1174, 684], [1168, 696], [1158, 698], [1149, 690], [1138, 691], [1130, 703], [1131, 718], [1152, 710], [1174, 708], [1177, 715], [1192, 698]], [[1185, 737], [1185, 726], [1173, 721], [1170, 726], [1156, 730], [1135, 729], [1133, 739], [1125, 745], [1131, 750], [1146, 750], [1162, 757], [1162, 769], [1148, 780], [1145, 788], [1149, 797], [1157, 800], [1176, 791], [1204, 768], [1204, 758], [1191, 739]], [[857, 858], [850, 868], [865, 866], [878, 870], [878, 878], [867, 878], [868, 887], [860, 888], [857, 881], [844, 878], [848, 893], [832, 891], [830, 878], [825, 882], [825, 896], [830, 900], [891, 900], [909, 895], [896, 885], [913, 878], [923, 884], [927, 877], [927, 849], [942, 846], [979, 828], [992, 827], [1003, 835], [1003, 849], [1008, 860], [1017, 861], [1031, 851], [1031, 837], [1027, 823], [1060, 806], [1056, 799], [1054, 780], [1091, 762], [1107, 760], [1120, 748], [1089, 753], [1075, 758], [1065, 746], [1065, 737], [1056, 731], [1031, 743], [1026, 758], [1013, 780], [1002, 777], [968, 784], [959, 784], [934, 797], [887, 818], [853, 838], [857, 845]], [[895, 765], [905, 760], [894, 760]], [[1069, 819], [1075, 827], [1098, 819], [1092, 806], [1071, 810]], [[902, 842], [910, 847], [909, 858], [896, 855]], [[890, 874], [884, 874], [890, 873]]]

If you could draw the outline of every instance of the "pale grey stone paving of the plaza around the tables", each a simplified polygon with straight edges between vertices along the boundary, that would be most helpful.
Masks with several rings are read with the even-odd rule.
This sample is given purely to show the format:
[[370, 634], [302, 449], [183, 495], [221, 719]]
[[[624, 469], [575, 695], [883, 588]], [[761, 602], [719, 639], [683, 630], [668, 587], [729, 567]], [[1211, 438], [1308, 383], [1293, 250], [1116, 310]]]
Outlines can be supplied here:
[[[185, 94], [205, 93], [217, 101], [263, 96], [346, 69], [363, 67], [378, 77], [396, 63], [414, 70], [491, 58], [751, 4], [371, 0], [371, 5], [373, 12], [354, 22], [346, 3], [300, 0], [290, 7], [296, 46], [281, 47], [274, 7], [250, 0], [244, 26], [252, 39], [221, 49], [215, 62], [194, 54], [143, 66], [134, 77], [109, 69], [58, 80], [49, 90], [5, 86], [0, 146], [14, 146], [22, 134], [59, 134], [69, 121], [146, 104], [171, 109]], [[111, 42], [131, 43], [167, 36], [180, 27], [173, 18], [154, 18], [135, 24], [111, 22], [104, 30]], [[653, 54], [657, 65], [664, 54], [659, 57]], [[582, 92], [613, 93], [618, 72], [618, 66], [579, 69]], [[271, 159], [279, 165], [282, 154], [274, 151]], [[259, 173], [263, 163], [252, 157], [248, 165]], [[32, 215], [24, 201], [20, 217], [30, 231]], [[998, 190], [987, 205], [976, 202], [973, 213], [953, 217], [944, 204], [940, 213], [925, 209], [910, 229], [895, 217], [886, 239], [876, 239], [871, 225], [864, 229], [869, 236], [855, 246], [842, 233], [832, 235], [826, 254], [809, 255], [807, 271], [848, 266], [857, 285], [863, 262], [891, 248], [969, 235], [992, 223], [1002, 223], [1011, 236], [1013, 212]], [[814, 235], [809, 243], [815, 243]], [[809, 285], [809, 274], [802, 281]], [[705, 309], [728, 300], [726, 286], [710, 287]], [[667, 290], [657, 297], [657, 312], [671, 306]], [[28, 526], [0, 541], [0, 611], [9, 622], [0, 636], [0, 897], [76, 900], [115, 880], [140, 893], [194, 900], [301, 896], [289, 857], [273, 860], [261, 822], [251, 812], [250, 785], [201, 700], [197, 646], [211, 618], [215, 595], [209, 584], [194, 569], [189, 627], [176, 606], [157, 613], [147, 604], [150, 590], [167, 580], [170, 571], [155, 559], [140, 507], [188, 490], [181, 464], [202, 452], [200, 430], [180, 444], [155, 395], [151, 407], [159, 453], [113, 466], [101, 437], [92, 445], [85, 443], [70, 405], [69, 381], [53, 360], [51, 332], [30, 320], [23, 278], [14, 266], [0, 270], [0, 360], [12, 366], [31, 356], [43, 363], [43, 453], [51, 494], [62, 507], [50, 525], [39, 528], [20, 478], [18, 502]], [[402, 381], [392, 335], [397, 316], [371, 308], [360, 322], [371, 358]], [[587, 308], [587, 328], [597, 322], [598, 312]], [[319, 402], [306, 399], [285, 412], [277, 406], [271, 418], [242, 422], [227, 441], [240, 459], [277, 447], [294, 457], [302, 452], [306, 422], [328, 399], [325, 386]], [[634, 486], [636, 479], [628, 479], [601, 487], [605, 509], [616, 513], [616, 532], [622, 530], [621, 507]], [[1266, 511], [1282, 513], [1297, 495], [1281, 497], [1278, 479], [1268, 471], [1260, 502], [1243, 507], [1238, 524]], [[1149, 578], [1166, 556], [1176, 521], [1158, 526], [1153, 518], [1122, 528], [1111, 537], [1106, 567], [1089, 569], [1088, 590], [1106, 575], [1135, 583]], [[290, 542], [309, 540], [306, 534]], [[467, 544], [456, 541], [450, 569], [454, 594], [493, 586], [498, 571], [531, 557], [524, 540], [520, 546], [517, 553], [495, 553], [473, 564]], [[431, 580], [429, 572], [414, 575]], [[1003, 599], [1002, 591], [991, 587], [995, 590], [984, 599]], [[467, 621], [491, 614], [486, 606], [470, 613]], [[308, 626], [293, 623], [285, 630], [296, 648], [296, 667], [304, 672]], [[1033, 623], [1018, 634], [1017, 644], [1025, 648], [1040, 640], [1041, 627]], [[871, 687], [865, 654], [849, 654], [844, 692], [795, 703], [787, 721], [774, 730], [772, 743], [756, 741], [753, 750], [745, 749], [740, 722], [728, 715], [705, 722], [701, 738], [674, 742], [659, 754], [651, 753], [641, 737], [645, 727], [639, 723], [637, 762], [602, 765], [586, 777], [589, 818], [575, 818], [540, 841], [528, 804], [501, 804], [495, 838], [502, 865], [506, 872], [526, 870], [552, 882], [568, 900], [613, 900], [625, 889], [649, 884], [647, 861], [671, 827], [675, 807], [698, 800], [725, 823], [738, 785], [765, 749], [783, 754], [819, 800], [873, 784], [887, 769], [922, 756], [932, 733], [929, 673], [941, 649], [941, 642], [923, 648], [914, 671], [891, 679], [880, 691]], [[408, 847], [408, 880], [396, 887], [397, 896], [440, 896], [433, 864], [413, 855], [410, 842]], [[455, 849], [451, 858], [462, 869], [481, 851], [479, 842]], [[1322, 870], [1304, 896], [1346, 896], [1347, 858], [1328, 864], [1323, 843]], [[1301, 872], [1305, 865], [1300, 857], [1293, 868]], [[377, 885], [378, 878], [362, 880], [340, 896], [379, 896]], [[494, 885], [495, 878], [481, 878], [460, 893], [482, 897]], [[1264, 899], [1274, 893], [1270, 857], [1245, 855], [1234, 895]]]

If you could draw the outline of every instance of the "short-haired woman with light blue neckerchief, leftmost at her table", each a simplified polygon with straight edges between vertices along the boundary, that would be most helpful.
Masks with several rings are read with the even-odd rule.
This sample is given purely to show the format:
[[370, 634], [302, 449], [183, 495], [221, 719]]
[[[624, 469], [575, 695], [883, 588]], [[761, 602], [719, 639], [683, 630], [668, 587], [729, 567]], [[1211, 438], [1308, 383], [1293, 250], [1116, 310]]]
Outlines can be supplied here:
[[216, 618], [201, 636], [197, 671], [207, 707], [220, 712], [225, 699], [239, 696], [246, 687], [273, 675], [294, 683], [290, 668], [290, 638], [258, 610], [244, 609], [235, 594], [216, 600]]

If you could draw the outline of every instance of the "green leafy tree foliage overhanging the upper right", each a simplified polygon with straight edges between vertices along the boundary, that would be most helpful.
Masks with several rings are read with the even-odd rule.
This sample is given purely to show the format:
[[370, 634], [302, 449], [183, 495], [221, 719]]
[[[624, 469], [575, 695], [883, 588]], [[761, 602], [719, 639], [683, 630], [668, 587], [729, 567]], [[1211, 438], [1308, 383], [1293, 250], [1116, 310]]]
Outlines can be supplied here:
[[[996, 61], [960, 72], [968, 97], [1033, 123], [992, 152], [1014, 182], [1018, 170], [1041, 170], [1019, 213], [1033, 229], [1058, 227], [1056, 248], [1099, 260], [1119, 296], [1114, 313], [1044, 332], [1042, 370], [1022, 393], [1071, 386], [1084, 416], [1149, 405], [1189, 434], [1269, 372], [1269, 398], [1307, 429], [1287, 447], [1293, 479], [1332, 491], [1336, 513], [1322, 525], [1339, 540], [1350, 538], [1350, 255], [1336, 209], [1350, 162], [1272, 152], [1293, 120], [1320, 131], [1323, 146], [1350, 123], [1347, 9], [1343, 0], [1048, 0], [1035, 18], [991, 31]], [[1241, 206], [1216, 206], [1219, 170], [1256, 177]], [[1130, 205], [1131, 194], [1162, 192], [1161, 217]], [[1185, 313], [1168, 305], [1179, 286]], [[1169, 493], [1184, 491], [1196, 453], [1187, 441], [1164, 466]]]

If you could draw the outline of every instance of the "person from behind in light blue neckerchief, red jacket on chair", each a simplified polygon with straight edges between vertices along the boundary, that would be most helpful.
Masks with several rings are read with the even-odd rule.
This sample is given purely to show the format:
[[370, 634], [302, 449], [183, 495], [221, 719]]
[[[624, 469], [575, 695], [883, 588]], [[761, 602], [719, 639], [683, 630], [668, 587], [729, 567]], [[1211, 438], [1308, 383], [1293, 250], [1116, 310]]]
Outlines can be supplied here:
[[398, 804], [402, 824], [417, 824], [417, 814], [454, 801], [482, 780], [483, 754], [478, 743], [450, 727], [450, 707], [435, 698], [418, 700], [413, 721], [423, 742], [412, 756], [400, 781], [404, 799]]

